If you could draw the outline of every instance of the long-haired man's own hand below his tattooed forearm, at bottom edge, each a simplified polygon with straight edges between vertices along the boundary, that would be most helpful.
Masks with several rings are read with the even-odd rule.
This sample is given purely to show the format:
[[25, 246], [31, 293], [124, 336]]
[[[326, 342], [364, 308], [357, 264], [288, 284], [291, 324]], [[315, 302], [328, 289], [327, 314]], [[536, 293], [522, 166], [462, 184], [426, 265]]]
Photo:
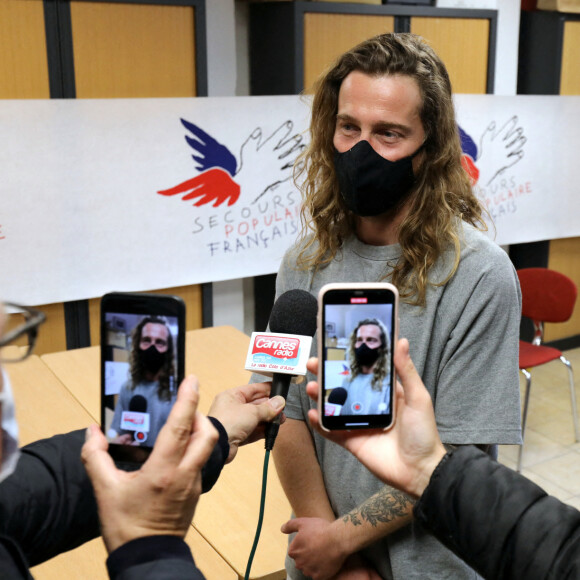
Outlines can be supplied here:
[[288, 546], [288, 555], [304, 575], [326, 580], [340, 571], [348, 556], [340, 550], [336, 536], [340, 524], [322, 518], [295, 518], [282, 526], [284, 534], [296, 534]]

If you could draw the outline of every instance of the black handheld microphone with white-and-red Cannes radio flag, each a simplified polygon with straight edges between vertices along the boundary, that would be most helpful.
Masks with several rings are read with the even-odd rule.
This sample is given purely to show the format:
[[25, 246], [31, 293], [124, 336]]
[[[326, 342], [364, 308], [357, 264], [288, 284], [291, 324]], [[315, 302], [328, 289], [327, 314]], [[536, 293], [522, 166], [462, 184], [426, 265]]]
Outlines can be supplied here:
[[[272, 307], [270, 332], [254, 332], [246, 369], [272, 377], [270, 397], [288, 396], [292, 377], [306, 374], [312, 337], [316, 332], [316, 298], [306, 290], [284, 292]], [[266, 450], [274, 447], [280, 416], [266, 425]]]

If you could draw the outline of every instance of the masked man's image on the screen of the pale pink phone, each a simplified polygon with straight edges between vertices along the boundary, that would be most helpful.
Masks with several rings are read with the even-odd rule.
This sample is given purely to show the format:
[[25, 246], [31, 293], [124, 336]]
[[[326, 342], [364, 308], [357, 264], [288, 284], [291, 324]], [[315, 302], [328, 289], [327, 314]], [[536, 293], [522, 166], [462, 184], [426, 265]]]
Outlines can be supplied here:
[[390, 400], [390, 350], [388, 332], [376, 318], [361, 320], [350, 337], [350, 377], [343, 387], [347, 398], [342, 415], [388, 413]]

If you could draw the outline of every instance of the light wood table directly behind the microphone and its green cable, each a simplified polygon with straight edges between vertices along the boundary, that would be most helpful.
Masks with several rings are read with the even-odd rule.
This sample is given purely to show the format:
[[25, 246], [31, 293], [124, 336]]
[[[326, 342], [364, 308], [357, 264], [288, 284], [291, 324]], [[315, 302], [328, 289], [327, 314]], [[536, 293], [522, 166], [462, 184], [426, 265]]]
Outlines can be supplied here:
[[[231, 326], [188, 331], [186, 374], [200, 382], [200, 410], [207, 413], [215, 395], [245, 384], [250, 373], [244, 369], [249, 337]], [[42, 361], [66, 386], [75, 400], [96, 421], [99, 418], [100, 348], [89, 347], [43, 355]], [[242, 447], [226, 465], [214, 488], [201, 497], [193, 527], [243, 578], [258, 522], [264, 445]], [[280, 526], [291, 508], [271, 462], [262, 534], [251, 578], [278, 580], [286, 577], [284, 558], [287, 537]], [[194, 547], [194, 557], [203, 570], [205, 556]], [[226, 576], [207, 572], [209, 580]]]

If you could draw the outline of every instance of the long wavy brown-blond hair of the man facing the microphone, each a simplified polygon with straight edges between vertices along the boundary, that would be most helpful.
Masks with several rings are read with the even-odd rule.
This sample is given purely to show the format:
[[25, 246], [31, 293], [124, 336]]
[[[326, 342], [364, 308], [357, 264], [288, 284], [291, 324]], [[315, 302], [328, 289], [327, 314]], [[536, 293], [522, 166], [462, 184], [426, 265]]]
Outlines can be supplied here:
[[410, 211], [399, 226], [402, 254], [391, 281], [401, 297], [424, 305], [429, 270], [452, 248], [459, 265], [459, 226], [463, 220], [487, 227], [484, 209], [474, 195], [461, 165], [461, 145], [455, 121], [451, 83], [445, 65], [419, 36], [389, 33], [375, 36], [343, 54], [315, 85], [310, 145], [296, 164], [295, 180], [303, 194], [302, 250], [297, 267], [318, 268], [336, 256], [345, 239], [355, 233], [355, 219], [340, 195], [334, 170], [333, 137], [342, 81], [352, 71], [373, 76], [406, 75], [416, 80], [425, 131], [424, 162], [410, 193]]

